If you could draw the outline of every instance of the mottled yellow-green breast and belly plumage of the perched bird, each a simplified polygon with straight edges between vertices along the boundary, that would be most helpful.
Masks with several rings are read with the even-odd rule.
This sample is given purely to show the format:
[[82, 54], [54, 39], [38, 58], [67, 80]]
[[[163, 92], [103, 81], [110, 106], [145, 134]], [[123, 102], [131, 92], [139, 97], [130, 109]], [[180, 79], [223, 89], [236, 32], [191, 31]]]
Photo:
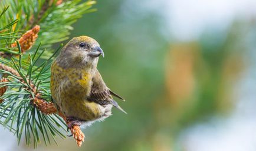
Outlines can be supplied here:
[[92, 78], [88, 72], [76, 68], [63, 69], [57, 62], [52, 63], [51, 71], [52, 98], [65, 116], [81, 120], [100, 117], [97, 103], [86, 100]]

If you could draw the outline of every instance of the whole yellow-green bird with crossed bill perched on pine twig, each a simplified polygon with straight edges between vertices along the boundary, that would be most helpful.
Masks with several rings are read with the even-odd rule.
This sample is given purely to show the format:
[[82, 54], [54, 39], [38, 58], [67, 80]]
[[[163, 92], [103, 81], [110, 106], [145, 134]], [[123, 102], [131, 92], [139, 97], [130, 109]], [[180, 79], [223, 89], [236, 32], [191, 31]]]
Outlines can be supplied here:
[[124, 99], [107, 87], [97, 69], [100, 55], [104, 58], [104, 52], [95, 39], [78, 36], [71, 39], [52, 62], [52, 102], [65, 116], [72, 135], [76, 135], [74, 126], [90, 126], [108, 118], [113, 106], [126, 113], [113, 96]]

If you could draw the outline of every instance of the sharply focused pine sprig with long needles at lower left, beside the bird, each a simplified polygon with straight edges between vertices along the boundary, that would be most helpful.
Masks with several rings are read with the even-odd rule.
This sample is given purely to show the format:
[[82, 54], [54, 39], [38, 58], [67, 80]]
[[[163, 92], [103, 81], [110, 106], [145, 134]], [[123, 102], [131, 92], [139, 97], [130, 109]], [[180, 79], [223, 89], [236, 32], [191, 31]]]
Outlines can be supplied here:
[[[17, 45], [19, 52], [21, 52], [21, 47], [19, 46], [18, 41]], [[30, 144], [30, 136], [32, 133], [34, 136], [34, 146], [36, 147], [37, 143], [40, 141], [37, 129], [45, 127], [45, 130], [40, 129], [42, 136], [48, 136], [48, 133], [50, 133], [52, 139], [55, 139], [55, 135], [61, 137], [65, 136], [60, 130], [56, 129], [54, 125], [57, 125], [64, 130], [65, 125], [63, 120], [56, 118], [57, 115], [49, 115], [51, 113], [57, 113], [57, 110], [49, 99], [50, 92], [47, 90], [49, 85], [47, 88], [45, 88], [44, 85], [40, 85], [43, 77], [40, 75], [42, 75], [42, 73], [47, 73], [44, 75], [47, 75], [48, 78], [50, 78], [50, 71], [44, 70], [45, 66], [42, 66], [41, 68], [33, 66], [35, 61], [37, 61], [36, 53], [29, 58], [31, 61], [30, 65], [27, 65], [26, 62], [22, 62], [21, 55], [19, 56], [19, 59], [12, 58], [11, 61], [4, 58], [0, 59], [1, 65], [4, 62], [8, 62], [9, 65], [12, 64], [13, 66], [8, 66], [8, 68], [6, 68], [5, 65], [2, 65], [3, 68], [0, 71], [1, 73], [8, 74], [9, 81], [0, 83], [1, 87], [8, 86], [8, 90], [1, 96], [1, 99], [3, 99], [4, 102], [1, 104], [0, 116], [1, 119], [5, 119], [2, 123], [5, 127], [14, 127], [14, 123], [17, 122], [15, 133], [17, 134], [18, 142], [21, 140], [22, 133], [24, 132], [23, 130], [25, 130], [26, 142]], [[32, 60], [33, 58], [34, 60]], [[35, 70], [36, 75], [31, 75], [29, 69], [32, 71], [35, 68], [37, 68], [37, 70]], [[25, 72], [27, 72], [27, 75]], [[40, 112], [35, 114], [37, 110]], [[34, 116], [34, 118], [32, 118], [32, 116]], [[32, 125], [32, 123], [34, 123], [34, 125]], [[63, 124], [60, 125], [59, 123]], [[48, 142], [50, 143], [50, 139], [48, 139]], [[45, 142], [45, 144], [47, 144], [47, 142]]]

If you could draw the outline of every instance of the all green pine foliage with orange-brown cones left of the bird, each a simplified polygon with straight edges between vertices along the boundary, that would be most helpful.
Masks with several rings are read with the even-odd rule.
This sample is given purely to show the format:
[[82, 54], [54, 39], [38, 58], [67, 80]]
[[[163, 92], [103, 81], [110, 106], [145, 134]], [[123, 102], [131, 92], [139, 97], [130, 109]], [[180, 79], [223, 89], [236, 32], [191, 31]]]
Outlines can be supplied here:
[[[51, 102], [50, 67], [71, 24], [93, 12], [95, 1], [2, 0], [0, 2], [0, 124], [37, 147], [66, 136], [66, 121]], [[75, 138], [76, 139], [76, 138]], [[77, 140], [81, 146], [81, 142]]]

